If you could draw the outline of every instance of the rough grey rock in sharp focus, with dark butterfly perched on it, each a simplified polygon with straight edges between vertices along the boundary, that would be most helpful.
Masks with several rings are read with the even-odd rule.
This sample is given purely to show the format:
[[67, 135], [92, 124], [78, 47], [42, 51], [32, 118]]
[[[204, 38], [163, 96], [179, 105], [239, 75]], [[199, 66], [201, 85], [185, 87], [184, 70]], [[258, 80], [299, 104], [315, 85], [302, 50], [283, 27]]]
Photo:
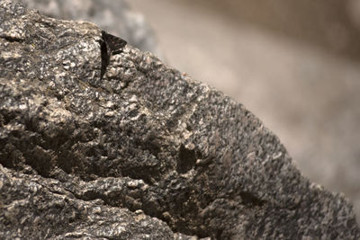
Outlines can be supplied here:
[[0, 238], [356, 239], [241, 104], [102, 31], [0, 1]]

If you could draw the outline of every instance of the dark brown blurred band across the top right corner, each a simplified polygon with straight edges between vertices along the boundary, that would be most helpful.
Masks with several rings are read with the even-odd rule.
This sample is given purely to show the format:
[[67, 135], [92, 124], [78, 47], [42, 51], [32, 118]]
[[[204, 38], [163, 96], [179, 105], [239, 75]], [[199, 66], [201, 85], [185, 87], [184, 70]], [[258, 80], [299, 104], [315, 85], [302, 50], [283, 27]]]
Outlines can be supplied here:
[[234, 21], [256, 24], [274, 33], [316, 44], [321, 49], [360, 59], [360, 4], [357, 0], [196, 2]]

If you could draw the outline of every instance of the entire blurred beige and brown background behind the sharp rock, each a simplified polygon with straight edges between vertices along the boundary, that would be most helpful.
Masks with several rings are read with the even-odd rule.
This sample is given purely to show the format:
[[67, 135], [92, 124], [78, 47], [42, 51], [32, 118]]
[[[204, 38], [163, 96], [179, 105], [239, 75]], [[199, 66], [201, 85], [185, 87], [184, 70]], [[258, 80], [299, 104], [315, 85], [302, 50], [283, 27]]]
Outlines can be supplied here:
[[243, 103], [360, 223], [360, 0], [25, 2], [95, 22]]

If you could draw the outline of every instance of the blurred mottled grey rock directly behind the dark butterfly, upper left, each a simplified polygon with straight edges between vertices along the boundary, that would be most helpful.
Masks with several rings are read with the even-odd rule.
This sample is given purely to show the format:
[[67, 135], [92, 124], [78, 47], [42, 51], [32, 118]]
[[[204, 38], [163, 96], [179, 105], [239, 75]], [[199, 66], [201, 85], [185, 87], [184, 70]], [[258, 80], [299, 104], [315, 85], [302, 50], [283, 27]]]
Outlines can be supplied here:
[[94, 22], [132, 46], [163, 58], [154, 31], [144, 16], [133, 12], [125, 0], [23, 0], [23, 3], [50, 17]]

